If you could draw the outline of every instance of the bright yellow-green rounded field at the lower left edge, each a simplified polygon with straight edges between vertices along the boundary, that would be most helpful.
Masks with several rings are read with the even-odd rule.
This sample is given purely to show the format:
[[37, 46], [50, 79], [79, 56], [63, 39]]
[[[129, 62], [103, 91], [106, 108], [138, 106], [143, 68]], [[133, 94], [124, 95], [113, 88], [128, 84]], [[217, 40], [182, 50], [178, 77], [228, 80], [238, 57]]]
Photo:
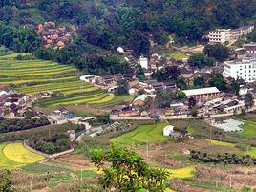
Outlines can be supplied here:
[[44, 157], [27, 150], [22, 143], [0, 144], [0, 169], [26, 166]]

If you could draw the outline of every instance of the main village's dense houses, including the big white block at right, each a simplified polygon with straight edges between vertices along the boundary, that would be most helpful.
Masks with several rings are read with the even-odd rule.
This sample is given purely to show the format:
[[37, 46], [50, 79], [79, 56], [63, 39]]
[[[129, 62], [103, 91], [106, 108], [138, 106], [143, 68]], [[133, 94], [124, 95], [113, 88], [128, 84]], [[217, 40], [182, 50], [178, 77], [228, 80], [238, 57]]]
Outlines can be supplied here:
[[[240, 50], [241, 51], [241, 50]], [[240, 93], [236, 96], [233, 93], [220, 92], [216, 87], [207, 87], [200, 89], [183, 90], [182, 92], [189, 98], [194, 97], [197, 101], [198, 112], [201, 115], [215, 114], [232, 114], [241, 113], [245, 106], [245, 95], [250, 93], [254, 97], [254, 105], [256, 104], [256, 45], [255, 43], [245, 44], [243, 52], [238, 58], [232, 61], [224, 61], [223, 64], [213, 67], [204, 67], [197, 69], [189, 66], [186, 62], [179, 62], [172, 59], [161, 58], [157, 54], [151, 55], [149, 62], [140, 57], [142, 65], [147, 73], [153, 73], [166, 66], [176, 65], [181, 70], [181, 76], [187, 85], [193, 84], [196, 76], [203, 75], [204, 78], [210, 78], [212, 72], [222, 73], [227, 84], [230, 86], [233, 78], [239, 79]], [[178, 63], [179, 62], [179, 63]], [[150, 79], [150, 75], [146, 75], [146, 79]], [[131, 87], [133, 94], [139, 94], [132, 103], [119, 106], [113, 110], [113, 117], [156, 117], [156, 116], [187, 116], [191, 114], [187, 100], [182, 102], [175, 101], [168, 108], [160, 109], [143, 109], [145, 100], [156, 97], [156, 92], [162, 89], [170, 89], [177, 91], [176, 82], [157, 82], [154, 80], [145, 80], [144, 82], [135, 83]]]

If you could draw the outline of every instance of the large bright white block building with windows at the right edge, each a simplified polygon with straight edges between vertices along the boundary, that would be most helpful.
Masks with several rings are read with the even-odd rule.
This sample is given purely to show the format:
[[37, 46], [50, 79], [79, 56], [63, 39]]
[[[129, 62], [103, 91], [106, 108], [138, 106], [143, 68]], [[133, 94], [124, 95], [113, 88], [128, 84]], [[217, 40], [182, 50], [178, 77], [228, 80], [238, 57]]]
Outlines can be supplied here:
[[256, 57], [243, 57], [233, 61], [224, 61], [224, 76], [242, 78], [245, 82], [256, 80]]

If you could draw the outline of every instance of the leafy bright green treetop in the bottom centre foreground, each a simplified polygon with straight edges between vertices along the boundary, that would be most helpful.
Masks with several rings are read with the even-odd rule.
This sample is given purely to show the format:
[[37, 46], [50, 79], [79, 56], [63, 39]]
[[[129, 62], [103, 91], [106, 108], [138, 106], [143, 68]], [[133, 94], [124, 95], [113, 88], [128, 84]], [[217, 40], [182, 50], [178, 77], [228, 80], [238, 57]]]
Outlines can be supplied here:
[[99, 184], [112, 191], [163, 191], [167, 172], [152, 168], [135, 152], [127, 148], [111, 145], [107, 150], [97, 149], [92, 154], [96, 167], [103, 168]]

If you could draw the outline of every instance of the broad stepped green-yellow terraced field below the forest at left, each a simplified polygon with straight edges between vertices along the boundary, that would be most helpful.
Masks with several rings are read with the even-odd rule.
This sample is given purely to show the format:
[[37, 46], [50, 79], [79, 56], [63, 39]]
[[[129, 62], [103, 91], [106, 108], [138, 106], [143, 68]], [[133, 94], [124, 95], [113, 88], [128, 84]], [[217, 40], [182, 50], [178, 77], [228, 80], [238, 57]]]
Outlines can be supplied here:
[[61, 92], [64, 96], [40, 102], [47, 107], [76, 104], [101, 104], [115, 96], [79, 80], [73, 66], [52, 61], [16, 60], [16, 54], [0, 56], [0, 83], [14, 85], [15, 91], [32, 96], [41, 92]]

